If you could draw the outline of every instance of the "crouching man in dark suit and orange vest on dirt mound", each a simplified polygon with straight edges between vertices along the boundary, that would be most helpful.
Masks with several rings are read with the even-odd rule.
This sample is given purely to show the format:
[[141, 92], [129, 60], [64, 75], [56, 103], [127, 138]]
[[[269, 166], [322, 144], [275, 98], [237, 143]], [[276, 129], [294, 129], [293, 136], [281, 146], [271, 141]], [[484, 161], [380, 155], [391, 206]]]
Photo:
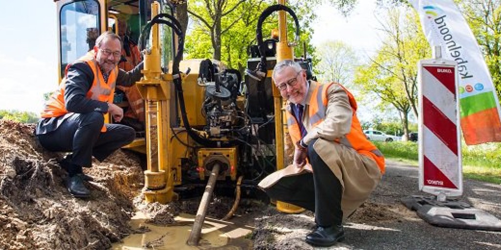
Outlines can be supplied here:
[[75, 197], [89, 197], [83, 183], [92, 177], [82, 167], [90, 167], [92, 156], [104, 160], [135, 137], [135, 131], [122, 124], [104, 123], [109, 113], [115, 122], [123, 109], [113, 104], [115, 85], [131, 86], [141, 79], [143, 63], [131, 71], [117, 67], [122, 40], [106, 31], [96, 39], [94, 49], [66, 68], [58, 89], [45, 103], [36, 135], [51, 151], [71, 151], [60, 163], [68, 171], [68, 190]]

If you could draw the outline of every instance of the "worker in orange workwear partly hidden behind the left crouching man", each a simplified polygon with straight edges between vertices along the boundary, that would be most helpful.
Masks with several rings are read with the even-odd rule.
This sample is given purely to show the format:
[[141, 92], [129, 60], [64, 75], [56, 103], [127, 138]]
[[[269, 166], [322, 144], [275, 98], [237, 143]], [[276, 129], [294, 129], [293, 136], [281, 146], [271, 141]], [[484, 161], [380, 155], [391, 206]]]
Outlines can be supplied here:
[[[129, 71], [141, 62], [141, 53], [137, 44], [130, 38], [126, 20], [118, 21], [118, 34], [122, 38], [122, 57], [118, 67]], [[124, 91], [129, 102], [129, 108], [124, 113], [123, 124], [130, 125], [136, 131], [144, 130], [144, 100], [136, 86], [118, 86]]]

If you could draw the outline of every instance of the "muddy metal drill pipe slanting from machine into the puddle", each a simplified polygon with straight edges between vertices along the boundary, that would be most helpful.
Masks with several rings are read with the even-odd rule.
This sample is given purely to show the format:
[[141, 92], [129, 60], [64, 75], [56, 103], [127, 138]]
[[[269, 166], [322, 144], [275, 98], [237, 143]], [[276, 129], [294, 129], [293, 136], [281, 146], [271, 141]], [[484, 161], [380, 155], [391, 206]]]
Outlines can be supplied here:
[[217, 175], [219, 175], [219, 164], [215, 163], [212, 167], [212, 171], [210, 172], [209, 180], [207, 181], [205, 191], [202, 195], [202, 200], [200, 201], [198, 211], [196, 212], [193, 227], [191, 228], [191, 232], [186, 242], [188, 245], [198, 245], [200, 232], [202, 231], [203, 220], [205, 220], [205, 214], [207, 213], [207, 207], [210, 203], [210, 197], [212, 197], [212, 192], [214, 191]]

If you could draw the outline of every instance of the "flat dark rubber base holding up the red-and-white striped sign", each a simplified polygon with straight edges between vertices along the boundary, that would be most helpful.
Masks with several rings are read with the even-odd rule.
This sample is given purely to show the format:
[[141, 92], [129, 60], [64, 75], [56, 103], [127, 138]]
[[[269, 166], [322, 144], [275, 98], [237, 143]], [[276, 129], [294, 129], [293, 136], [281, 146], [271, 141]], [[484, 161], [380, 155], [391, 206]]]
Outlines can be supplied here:
[[435, 226], [501, 231], [501, 220], [462, 201], [438, 201], [436, 196], [422, 195], [402, 198], [401, 201], [424, 221]]

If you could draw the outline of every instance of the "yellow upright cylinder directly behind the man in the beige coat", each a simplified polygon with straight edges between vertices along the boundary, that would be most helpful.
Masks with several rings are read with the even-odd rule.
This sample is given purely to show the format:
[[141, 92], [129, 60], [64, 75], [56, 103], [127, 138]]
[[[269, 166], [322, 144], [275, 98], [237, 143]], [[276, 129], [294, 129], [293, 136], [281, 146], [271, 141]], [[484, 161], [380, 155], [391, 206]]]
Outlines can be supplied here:
[[[285, 5], [286, 0], [279, 0], [280, 4]], [[287, 39], [287, 16], [286, 11], [279, 11], [279, 36], [280, 41], [277, 43], [277, 63], [283, 61], [285, 59], [294, 59], [294, 50], [293, 47], [289, 45]], [[285, 167], [284, 159], [285, 159], [285, 147], [284, 147], [284, 124], [287, 124], [285, 120], [285, 116], [282, 112], [282, 107], [284, 105], [284, 101], [282, 99], [282, 95], [280, 95], [280, 90], [277, 88], [274, 82], [273, 85], [273, 103], [275, 108], [275, 136], [277, 143], [277, 169], [282, 169]], [[287, 162], [289, 163], [289, 162]], [[287, 213], [300, 213], [305, 209], [296, 206], [290, 203], [286, 203], [283, 201], [277, 201], [277, 209], [282, 212]]]

